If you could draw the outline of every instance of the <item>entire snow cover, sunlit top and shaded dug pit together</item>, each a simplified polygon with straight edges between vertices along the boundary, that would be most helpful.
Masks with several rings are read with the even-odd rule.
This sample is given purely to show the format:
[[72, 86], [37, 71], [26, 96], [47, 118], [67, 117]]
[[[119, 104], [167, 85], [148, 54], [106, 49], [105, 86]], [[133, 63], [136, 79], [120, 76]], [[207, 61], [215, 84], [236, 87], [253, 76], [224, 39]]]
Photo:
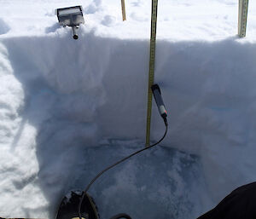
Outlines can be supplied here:
[[[0, 216], [54, 218], [61, 198], [144, 147], [151, 1], [0, 1]], [[84, 7], [79, 40], [55, 9]], [[102, 218], [196, 218], [256, 179], [256, 3], [159, 1], [159, 147], [90, 188]], [[152, 142], [164, 132], [153, 106]]]

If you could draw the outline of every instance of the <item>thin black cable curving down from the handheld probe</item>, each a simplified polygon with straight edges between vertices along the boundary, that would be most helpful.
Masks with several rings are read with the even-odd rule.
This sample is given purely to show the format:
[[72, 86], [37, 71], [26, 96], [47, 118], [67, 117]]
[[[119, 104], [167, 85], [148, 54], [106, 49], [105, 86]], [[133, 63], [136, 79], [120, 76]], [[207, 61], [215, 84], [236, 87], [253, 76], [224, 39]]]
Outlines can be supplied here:
[[82, 205], [82, 202], [83, 202], [83, 200], [84, 200], [84, 196], [85, 196], [85, 194], [87, 193], [87, 191], [89, 190], [90, 186], [91, 186], [94, 182], [96, 182], [97, 178], [99, 178], [100, 176], [102, 176], [102, 174], [103, 174], [104, 172], [106, 172], [106, 171], [110, 170], [111, 168], [113, 168], [114, 166], [116, 166], [116, 165], [118, 165], [118, 164], [124, 162], [126, 159], [133, 157], [133, 156], [136, 155], [137, 153], [141, 153], [141, 152], [143, 152], [143, 151], [145, 151], [145, 150], [148, 150], [149, 148], [154, 147], [154, 146], [158, 145], [161, 141], [163, 141], [164, 138], [166, 137], [166, 133], [167, 133], [167, 130], [168, 130], [167, 120], [164, 119], [164, 121], [165, 121], [165, 124], [166, 124], [166, 131], [165, 131], [165, 134], [161, 137], [160, 141], [157, 141], [157, 142], [154, 143], [153, 145], [150, 145], [150, 146], [148, 146], [148, 147], [144, 147], [143, 149], [140, 149], [140, 150], [138, 150], [137, 152], [131, 153], [131, 155], [129, 155], [129, 156], [125, 157], [125, 158], [120, 159], [118, 162], [116, 162], [116, 163], [114, 163], [114, 164], [108, 166], [105, 170], [102, 170], [100, 173], [98, 173], [98, 174], [92, 179], [92, 181], [91, 181], [91, 182], [88, 184], [88, 186], [84, 189], [83, 195], [82, 195], [82, 197], [81, 197], [81, 199], [80, 199], [80, 201], [79, 201], [79, 219], [82, 219], [82, 216], [81, 216], [81, 205]]

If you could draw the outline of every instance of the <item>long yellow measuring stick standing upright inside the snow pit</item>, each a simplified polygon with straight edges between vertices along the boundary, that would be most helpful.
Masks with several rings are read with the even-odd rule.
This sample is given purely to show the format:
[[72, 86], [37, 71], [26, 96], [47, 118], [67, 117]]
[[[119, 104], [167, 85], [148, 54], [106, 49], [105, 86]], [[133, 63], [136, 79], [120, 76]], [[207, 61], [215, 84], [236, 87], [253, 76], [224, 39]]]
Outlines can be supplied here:
[[157, 22], [157, 4], [158, 4], [158, 0], [152, 0], [150, 55], [149, 55], [149, 72], [148, 72], [148, 112], [147, 112], [146, 147], [150, 145], [150, 124], [151, 124], [151, 111], [152, 111], [151, 86], [154, 84], [154, 57], [155, 57], [155, 37], [156, 37], [156, 22]]

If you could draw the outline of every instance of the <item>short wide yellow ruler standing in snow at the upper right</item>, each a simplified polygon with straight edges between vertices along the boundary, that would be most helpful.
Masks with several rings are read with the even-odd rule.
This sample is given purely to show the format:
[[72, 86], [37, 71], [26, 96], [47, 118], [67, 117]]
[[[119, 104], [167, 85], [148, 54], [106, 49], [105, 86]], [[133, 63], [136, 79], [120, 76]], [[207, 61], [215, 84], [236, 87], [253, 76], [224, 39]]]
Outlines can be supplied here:
[[248, 0], [239, 0], [239, 14], [238, 14], [238, 35], [245, 37], [247, 32], [247, 12]]

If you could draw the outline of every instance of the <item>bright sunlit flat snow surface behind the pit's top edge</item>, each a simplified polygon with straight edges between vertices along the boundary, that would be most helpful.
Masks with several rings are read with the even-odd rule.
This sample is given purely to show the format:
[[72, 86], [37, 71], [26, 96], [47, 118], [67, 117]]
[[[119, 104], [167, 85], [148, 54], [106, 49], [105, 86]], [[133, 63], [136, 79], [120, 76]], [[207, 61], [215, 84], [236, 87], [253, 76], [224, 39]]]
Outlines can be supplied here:
[[[73, 5], [84, 8], [84, 29], [97, 36], [148, 39], [151, 1], [125, 1], [127, 21], [123, 22], [119, 0], [2, 0], [0, 34], [10, 36], [57, 35], [55, 9]], [[249, 3], [247, 40], [255, 41], [256, 4]], [[236, 0], [161, 0], [158, 4], [159, 39], [169, 41], [215, 41], [237, 34]], [[60, 31], [60, 30], [59, 30]], [[8, 34], [7, 34], [8, 33]]]

